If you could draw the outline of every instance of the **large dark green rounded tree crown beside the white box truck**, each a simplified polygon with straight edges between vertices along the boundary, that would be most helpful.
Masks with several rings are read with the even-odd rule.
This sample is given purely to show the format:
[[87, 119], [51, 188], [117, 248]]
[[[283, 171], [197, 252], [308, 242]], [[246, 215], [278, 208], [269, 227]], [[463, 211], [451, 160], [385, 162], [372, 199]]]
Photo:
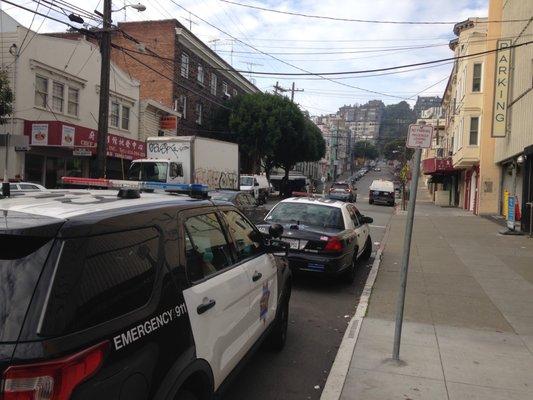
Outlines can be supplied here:
[[288, 173], [297, 162], [324, 156], [326, 144], [320, 130], [287, 98], [250, 93], [227, 105], [231, 110], [222, 111], [216, 124], [229, 134], [219, 138], [239, 144], [245, 170], [257, 173], [262, 165], [268, 175], [281, 166]]

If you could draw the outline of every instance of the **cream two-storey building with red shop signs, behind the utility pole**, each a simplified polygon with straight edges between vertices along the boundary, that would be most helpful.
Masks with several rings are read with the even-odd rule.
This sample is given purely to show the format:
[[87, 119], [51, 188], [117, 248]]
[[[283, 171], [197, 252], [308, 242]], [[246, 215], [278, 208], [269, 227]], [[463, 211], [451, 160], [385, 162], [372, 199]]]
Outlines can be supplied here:
[[[14, 93], [14, 113], [0, 128], [10, 133], [8, 178], [54, 188], [62, 176], [90, 176], [98, 141], [98, 47], [83, 37], [35, 34], [7, 14], [2, 18], [9, 21], [1, 32], [3, 67]], [[124, 178], [131, 160], [146, 156], [146, 136], [157, 135], [147, 129], [151, 121], [179, 116], [153, 100], [142, 104], [139, 90], [137, 80], [111, 64], [108, 178]]]

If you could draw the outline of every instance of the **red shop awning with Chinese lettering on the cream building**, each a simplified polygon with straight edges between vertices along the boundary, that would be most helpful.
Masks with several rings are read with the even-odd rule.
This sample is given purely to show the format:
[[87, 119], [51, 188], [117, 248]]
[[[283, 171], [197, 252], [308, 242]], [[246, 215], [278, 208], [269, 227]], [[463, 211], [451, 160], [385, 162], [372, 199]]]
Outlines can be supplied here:
[[[98, 132], [83, 126], [62, 121], [24, 121], [24, 135], [30, 138], [30, 146], [86, 149], [96, 154]], [[107, 135], [107, 155], [127, 160], [145, 158], [146, 146], [140, 140], [110, 133]]]

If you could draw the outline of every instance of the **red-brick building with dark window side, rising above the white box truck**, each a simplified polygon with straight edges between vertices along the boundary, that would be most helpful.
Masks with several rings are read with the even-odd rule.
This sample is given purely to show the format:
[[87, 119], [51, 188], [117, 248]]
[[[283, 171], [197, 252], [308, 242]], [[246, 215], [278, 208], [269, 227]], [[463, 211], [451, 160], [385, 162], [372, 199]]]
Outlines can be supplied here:
[[225, 100], [259, 91], [175, 19], [119, 23], [113, 43], [112, 59], [139, 80], [141, 100], [181, 114], [178, 135], [216, 131]]

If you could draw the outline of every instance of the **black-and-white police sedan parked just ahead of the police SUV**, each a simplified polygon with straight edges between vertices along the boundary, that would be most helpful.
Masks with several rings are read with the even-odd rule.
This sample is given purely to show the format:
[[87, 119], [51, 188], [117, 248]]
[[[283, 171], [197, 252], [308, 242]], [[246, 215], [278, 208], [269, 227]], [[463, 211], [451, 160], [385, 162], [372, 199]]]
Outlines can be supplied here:
[[299, 197], [279, 202], [258, 228], [266, 234], [273, 224], [283, 226], [293, 272], [341, 276], [352, 282], [357, 260], [368, 260], [372, 253], [372, 222], [353, 204]]

